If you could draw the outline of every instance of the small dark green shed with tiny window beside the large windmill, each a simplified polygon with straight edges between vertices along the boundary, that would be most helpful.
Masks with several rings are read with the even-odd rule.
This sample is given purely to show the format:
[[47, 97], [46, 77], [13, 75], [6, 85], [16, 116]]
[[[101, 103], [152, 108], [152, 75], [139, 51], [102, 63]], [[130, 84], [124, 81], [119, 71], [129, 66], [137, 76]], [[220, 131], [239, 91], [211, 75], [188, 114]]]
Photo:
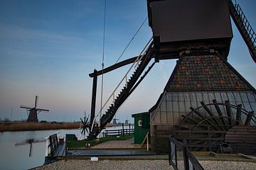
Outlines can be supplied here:
[[[133, 114], [134, 118], [134, 143], [142, 144], [146, 133], [150, 132], [150, 114], [149, 112]], [[149, 134], [149, 143], [150, 143], [150, 134]]]

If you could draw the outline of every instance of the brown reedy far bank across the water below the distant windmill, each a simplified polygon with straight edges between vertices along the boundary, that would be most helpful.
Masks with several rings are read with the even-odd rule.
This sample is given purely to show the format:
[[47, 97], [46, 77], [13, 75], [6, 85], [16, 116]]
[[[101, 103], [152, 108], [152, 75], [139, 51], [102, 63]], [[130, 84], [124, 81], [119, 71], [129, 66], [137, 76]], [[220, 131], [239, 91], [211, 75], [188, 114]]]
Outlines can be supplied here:
[[26, 130], [58, 130], [79, 128], [80, 123], [26, 123], [9, 122], [0, 123], [0, 132], [5, 131], [26, 131]]

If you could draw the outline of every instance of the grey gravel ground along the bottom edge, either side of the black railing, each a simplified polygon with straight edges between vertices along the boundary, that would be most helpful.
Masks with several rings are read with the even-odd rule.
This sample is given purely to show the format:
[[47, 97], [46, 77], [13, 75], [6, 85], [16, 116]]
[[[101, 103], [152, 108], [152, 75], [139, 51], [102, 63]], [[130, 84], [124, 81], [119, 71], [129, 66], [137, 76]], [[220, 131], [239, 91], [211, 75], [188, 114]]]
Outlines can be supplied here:
[[[219, 161], [200, 161], [206, 170], [255, 170], [256, 163], [252, 162], [219, 162]], [[53, 164], [48, 164], [36, 169], [173, 169], [168, 160], [102, 160], [98, 162], [91, 162], [90, 160], [60, 160]]]

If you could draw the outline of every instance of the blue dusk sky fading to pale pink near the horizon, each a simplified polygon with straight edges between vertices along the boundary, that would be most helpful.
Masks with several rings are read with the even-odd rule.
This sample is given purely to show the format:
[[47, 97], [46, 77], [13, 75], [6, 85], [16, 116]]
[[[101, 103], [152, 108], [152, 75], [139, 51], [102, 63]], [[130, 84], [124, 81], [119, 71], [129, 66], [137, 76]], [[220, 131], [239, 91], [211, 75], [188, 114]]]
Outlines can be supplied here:
[[[256, 30], [256, 1], [238, 1]], [[104, 0], [0, 0], [0, 118], [27, 118], [21, 104], [33, 106], [39, 96], [39, 120], [78, 121], [90, 114], [92, 78], [102, 67]], [[146, 0], [107, 0], [105, 67], [114, 64], [147, 17]], [[228, 62], [256, 86], [253, 62], [237, 28], [233, 25]], [[152, 32], [142, 26], [120, 61], [139, 55]], [[117, 112], [119, 121], [148, 111], [156, 103], [171, 76], [176, 60], [156, 63], [142, 84]], [[129, 66], [104, 76], [103, 102]], [[100, 108], [101, 77], [98, 77], [96, 111]], [[150, 94], [149, 94], [150, 93]]]

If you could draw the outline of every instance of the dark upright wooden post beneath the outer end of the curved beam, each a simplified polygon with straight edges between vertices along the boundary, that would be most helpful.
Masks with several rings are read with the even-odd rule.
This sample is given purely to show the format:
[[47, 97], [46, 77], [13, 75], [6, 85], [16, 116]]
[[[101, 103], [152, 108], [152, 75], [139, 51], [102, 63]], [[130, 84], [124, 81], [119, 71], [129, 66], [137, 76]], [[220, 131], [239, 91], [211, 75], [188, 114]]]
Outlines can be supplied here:
[[93, 122], [93, 120], [95, 118], [96, 92], [97, 92], [97, 69], [95, 69], [94, 72], [93, 72], [90, 129], [92, 128], [92, 122]]

